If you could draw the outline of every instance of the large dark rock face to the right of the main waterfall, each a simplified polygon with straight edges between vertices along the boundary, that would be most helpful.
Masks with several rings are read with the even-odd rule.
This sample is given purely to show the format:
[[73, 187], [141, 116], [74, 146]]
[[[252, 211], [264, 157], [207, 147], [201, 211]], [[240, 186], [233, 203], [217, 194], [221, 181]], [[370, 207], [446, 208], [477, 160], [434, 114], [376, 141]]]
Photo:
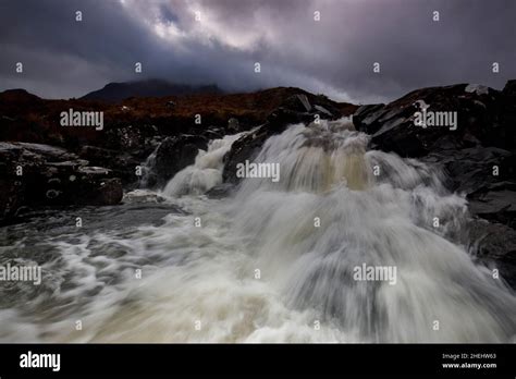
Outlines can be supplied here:
[[[363, 106], [353, 121], [372, 135], [373, 147], [441, 166], [450, 190], [477, 203], [474, 212], [511, 212], [507, 201], [516, 184], [514, 87], [509, 82], [503, 91], [465, 84], [418, 89], [389, 105]], [[427, 111], [456, 112], [456, 127], [416, 126], [421, 101]]]

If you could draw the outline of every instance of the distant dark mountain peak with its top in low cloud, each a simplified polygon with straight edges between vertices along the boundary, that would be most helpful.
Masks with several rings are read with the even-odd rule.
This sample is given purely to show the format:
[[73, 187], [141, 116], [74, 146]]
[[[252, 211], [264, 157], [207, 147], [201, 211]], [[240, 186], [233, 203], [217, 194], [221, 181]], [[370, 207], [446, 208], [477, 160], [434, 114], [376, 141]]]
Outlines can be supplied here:
[[173, 84], [162, 80], [148, 80], [126, 83], [109, 83], [103, 88], [82, 97], [84, 100], [119, 102], [128, 97], [163, 97], [181, 95], [220, 95], [217, 85], [189, 86]]

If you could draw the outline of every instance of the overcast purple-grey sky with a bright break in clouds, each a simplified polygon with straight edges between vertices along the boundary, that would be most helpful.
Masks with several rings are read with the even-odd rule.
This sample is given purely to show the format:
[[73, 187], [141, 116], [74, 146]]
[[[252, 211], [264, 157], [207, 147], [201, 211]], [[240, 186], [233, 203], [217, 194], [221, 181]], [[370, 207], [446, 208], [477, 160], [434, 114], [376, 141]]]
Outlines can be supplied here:
[[516, 78], [516, 1], [0, 0], [0, 90], [69, 98], [153, 77], [361, 103], [433, 85], [502, 88]]

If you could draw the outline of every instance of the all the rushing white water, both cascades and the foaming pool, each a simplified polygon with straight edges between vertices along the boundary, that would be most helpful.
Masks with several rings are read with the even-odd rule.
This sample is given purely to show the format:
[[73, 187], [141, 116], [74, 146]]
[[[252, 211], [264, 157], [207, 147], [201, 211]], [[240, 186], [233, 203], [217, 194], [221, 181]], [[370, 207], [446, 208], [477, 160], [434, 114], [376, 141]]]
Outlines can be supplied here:
[[[56, 256], [46, 286], [0, 310], [0, 340], [514, 340], [516, 297], [456, 242], [467, 205], [439, 172], [367, 151], [368, 136], [344, 119], [269, 138], [255, 161], [279, 163], [279, 182], [244, 179], [229, 198], [200, 195], [221, 183], [237, 137], [213, 140], [169, 182], [162, 204], [184, 212], [163, 224], [41, 242]], [[144, 198], [158, 201], [145, 191], [125, 200]], [[363, 265], [394, 267], [396, 280], [356, 280]]]

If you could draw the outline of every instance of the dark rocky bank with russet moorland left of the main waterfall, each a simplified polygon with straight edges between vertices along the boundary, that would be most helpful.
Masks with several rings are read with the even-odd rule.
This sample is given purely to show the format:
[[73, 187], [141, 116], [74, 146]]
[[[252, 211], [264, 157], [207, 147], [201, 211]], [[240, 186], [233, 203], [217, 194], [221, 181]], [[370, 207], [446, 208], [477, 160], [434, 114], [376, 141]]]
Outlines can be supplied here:
[[[103, 112], [102, 130], [61, 126], [60, 112], [70, 109]], [[354, 109], [298, 88], [128, 98], [119, 103], [45, 100], [23, 89], [7, 90], [0, 94], [0, 222], [16, 222], [40, 206], [118, 204], [124, 188], [142, 182], [163, 186], [192, 164], [210, 139], [260, 125], [254, 143], [260, 146], [290, 123], [315, 114], [336, 118]], [[236, 152], [232, 157], [237, 158]]]

